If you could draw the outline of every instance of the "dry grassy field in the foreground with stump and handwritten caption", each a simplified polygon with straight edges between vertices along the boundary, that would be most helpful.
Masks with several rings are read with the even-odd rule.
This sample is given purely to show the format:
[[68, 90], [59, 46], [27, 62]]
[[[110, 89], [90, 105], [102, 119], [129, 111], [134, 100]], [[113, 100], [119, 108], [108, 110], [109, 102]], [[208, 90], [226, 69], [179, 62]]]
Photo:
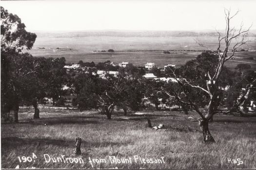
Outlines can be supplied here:
[[[147, 168], [147, 169], [219, 169], [256, 168], [256, 118], [216, 116], [210, 130], [216, 143], [205, 145], [198, 131], [195, 113], [179, 112], [115, 113], [107, 120], [97, 111], [78, 112], [65, 109], [41, 109], [41, 119], [33, 120], [33, 110], [20, 113], [20, 123], [1, 124], [2, 168]], [[168, 130], [155, 131], [145, 126], [146, 114], [153, 125], [164, 123]], [[75, 138], [82, 138], [81, 156], [74, 155]], [[20, 163], [18, 156], [37, 158]], [[83, 164], [45, 162], [43, 154], [52, 157], [82, 158]], [[161, 158], [165, 163], [111, 164], [108, 156], [117, 158]], [[105, 163], [88, 162], [88, 158], [106, 159]], [[243, 164], [228, 162], [240, 158]]]

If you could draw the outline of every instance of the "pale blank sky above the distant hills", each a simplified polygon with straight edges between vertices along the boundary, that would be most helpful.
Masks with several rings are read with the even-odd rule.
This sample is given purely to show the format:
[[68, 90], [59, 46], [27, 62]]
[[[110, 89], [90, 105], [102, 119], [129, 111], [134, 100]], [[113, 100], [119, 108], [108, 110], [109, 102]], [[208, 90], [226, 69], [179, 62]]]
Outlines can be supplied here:
[[225, 29], [224, 8], [239, 10], [231, 25], [256, 29], [256, 0], [6, 0], [27, 31]]

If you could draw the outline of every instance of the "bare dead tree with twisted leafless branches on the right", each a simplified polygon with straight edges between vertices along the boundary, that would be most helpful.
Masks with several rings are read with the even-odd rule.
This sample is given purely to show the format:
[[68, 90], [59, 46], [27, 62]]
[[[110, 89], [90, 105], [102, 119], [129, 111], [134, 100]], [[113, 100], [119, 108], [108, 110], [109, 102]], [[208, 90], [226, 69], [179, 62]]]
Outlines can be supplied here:
[[[207, 78], [208, 80], [206, 81], [206, 86], [203, 87], [200, 85], [195, 85], [195, 84], [193, 84], [193, 82], [189, 82], [188, 80], [186, 80], [183, 77], [177, 78], [177, 76], [175, 75], [175, 71], [174, 71], [173, 72], [174, 76], [177, 80], [178, 85], [181, 86], [182, 95], [184, 97], [180, 97], [179, 95], [181, 93], [178, 93], [174, 89], [166, 90], [165, 88], [162, 88], [162, 90], [164, 90], [167, 95], [169, 95], [170, 97], [175, 97], [178, 102], [180, 102], [184, 105], [191, 106], [199, 114], [199, 116], [201, 117], [199, 119], [199, 127], [203, 133], [203, 138], [204, 138], [205, 143], [215, 142], [213, 136], [211, 135], [211, 133], [209, 131], [208, 122], [217, 113], [217, 107], [220, 103], [221, 89], [219, 87], [219, 84], [220, 84], [219, 78], [222, 73], [223, 66], [224, 66], [225, 62], [230, 60], [235, 55], [235, 51], [237, 48], [241, 47], [242, 45], [247, 44], [250, 41], [247, 38], [248, 37], [247, 34], [251, 27], [244, 30], [243, 24], [241, 24], [240, 28], [238, 30], [236, 30], [235, 27], [231, 28], [231, 26], [230, 26], [230, 20], [232, 20], [237, 15], [238, 11], [234, 15], [231, 15], [230, 10], [227, 10], [227, 9], [225, 9], [224, 12], [225, 12], [225, 19], [226, 19], [226, 29], [225, 29], [224, 34], [217, 32], [217, 34], [218, 34], [217, 51], [214, 51], [214, 50], [210, 49], [209, 47], [205, 46], [204, 44], [196, 41], [200, 47], [205, 47], [218, 56], [218, 64], [217, 64], [216, 69], [214, 70], [214, 73], [210, 73], [209, 71], [207, 73], [205, 73], [206, 76], [208, 77]], [[232, 45], [232, 43], [234, 45]], [[221, 50], [221, 46], [223, 46], [223, 45], [224, 45], [224, 47], [223, 47], [224, 50]], [[229, 49], [233, 50], [231, 54], [228, 53]], [[205, 95], [207, 95], [209, 97], [207, 113], [205, 115], [199, 110], [198, 105], [193, 101], [193, 98], [191, 97], [191, 94], [190, 94], [190, 90], [188, 90], [188, 88], [190, 88], [190, 89], [195, 88], [197, 90], [200, 90], [203, 93], [205, 93]]]

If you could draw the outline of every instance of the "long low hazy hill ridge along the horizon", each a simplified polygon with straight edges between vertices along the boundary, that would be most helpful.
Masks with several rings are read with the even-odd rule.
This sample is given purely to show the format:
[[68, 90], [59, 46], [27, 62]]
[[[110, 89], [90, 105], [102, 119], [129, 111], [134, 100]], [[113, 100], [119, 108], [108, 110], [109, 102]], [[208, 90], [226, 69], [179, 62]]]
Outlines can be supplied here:
[[[185, 37], [185, 36], [218, 36], [214, 31], [80, 31], [80, 32], [35, 32], [38, 37]], [[250, 31], [250, 36], [256, 37], [256, 30]]]

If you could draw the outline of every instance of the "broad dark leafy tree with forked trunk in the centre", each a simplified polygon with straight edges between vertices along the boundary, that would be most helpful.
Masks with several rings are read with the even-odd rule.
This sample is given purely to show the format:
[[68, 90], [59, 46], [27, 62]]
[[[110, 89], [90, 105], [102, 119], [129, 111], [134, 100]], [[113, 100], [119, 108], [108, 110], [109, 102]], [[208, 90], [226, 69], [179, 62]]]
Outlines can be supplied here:
[[78, 98], [73, 104], [80, 110], [101, 108], [104, 110], [107, 119], [111, 119], [115, 106], [121, 106], [124, 111], [127, 108], [138, 109], [143, 96], [140, 93], [140, 83], [137, 79], [129, 76], [118, 75], [114, 77], [106, 74], [103, 78], [98, 75], [83, 73], [78, 76], [75, 89]]

